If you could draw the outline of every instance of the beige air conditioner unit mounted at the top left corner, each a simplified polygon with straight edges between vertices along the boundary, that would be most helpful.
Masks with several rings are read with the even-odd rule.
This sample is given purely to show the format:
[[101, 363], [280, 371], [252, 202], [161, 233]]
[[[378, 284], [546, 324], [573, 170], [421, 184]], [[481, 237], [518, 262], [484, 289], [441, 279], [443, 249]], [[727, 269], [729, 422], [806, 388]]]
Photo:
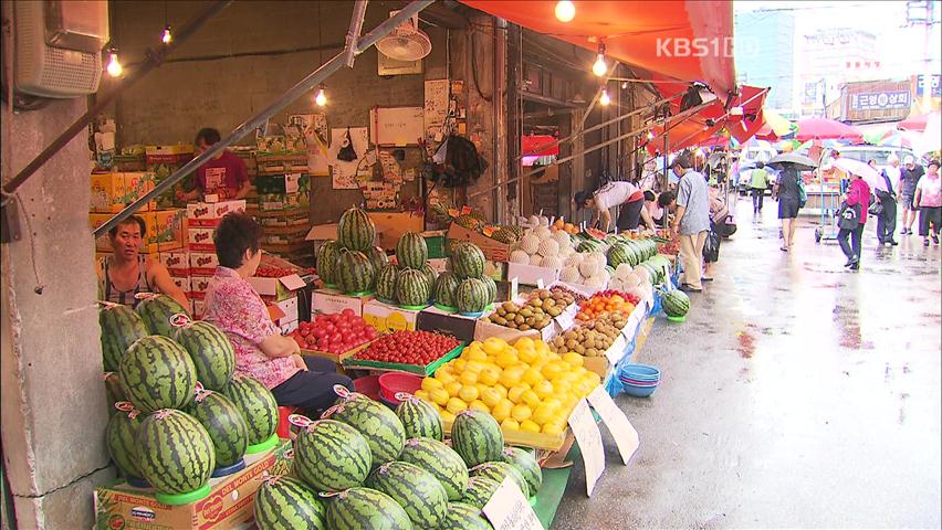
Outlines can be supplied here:
[[108, 42], [108, 4], [95, 1], [13, 2], [15, 87], [34, 96], [94, 94]]

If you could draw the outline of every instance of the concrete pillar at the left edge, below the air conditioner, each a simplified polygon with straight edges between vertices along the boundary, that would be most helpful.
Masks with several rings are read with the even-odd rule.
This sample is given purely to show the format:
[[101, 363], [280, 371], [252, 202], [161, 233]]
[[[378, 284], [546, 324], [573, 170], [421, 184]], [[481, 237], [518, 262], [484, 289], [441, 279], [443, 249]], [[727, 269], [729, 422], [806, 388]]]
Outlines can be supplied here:
[[[82, 98], [22, 114], [3, 105], [3, 182], [85, 109]], [[92, 491], [114, 476], [104, 444], [88, 160], [82, 134], [20, 188], [23, 239], [3, 244], [0, 257], [0, 426], [20, 529], [91, 528]]]

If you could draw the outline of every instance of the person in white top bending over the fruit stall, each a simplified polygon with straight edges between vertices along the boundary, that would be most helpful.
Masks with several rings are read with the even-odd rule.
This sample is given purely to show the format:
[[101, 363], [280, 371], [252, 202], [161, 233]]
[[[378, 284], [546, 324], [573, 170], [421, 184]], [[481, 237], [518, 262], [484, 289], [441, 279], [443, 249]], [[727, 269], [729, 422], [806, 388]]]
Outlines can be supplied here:
[[609, 182], [594, 192], [580, 191], [575, 197], [576, 209], [592, 208], [594, 210], [592, 226], [599, 223], [599, 230], [608, 232], [611, 225], [611, 212], [609, 209], [621, 206], [616, 225], [619, 231], [635, 230], [645, 221], [645, 225], [655, 230], [655, 222], [645, 209], [645, 192], [640, 188], [616, 180]]

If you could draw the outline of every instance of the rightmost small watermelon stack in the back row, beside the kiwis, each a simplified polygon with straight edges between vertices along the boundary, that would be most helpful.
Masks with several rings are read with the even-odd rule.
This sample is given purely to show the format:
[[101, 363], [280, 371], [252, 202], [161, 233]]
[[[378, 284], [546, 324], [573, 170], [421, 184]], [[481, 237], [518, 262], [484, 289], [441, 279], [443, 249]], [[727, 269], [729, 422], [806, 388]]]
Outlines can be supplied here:
[[448, 271], [435, 284], [436, 307], [480, 316], [496, 299], [498, 284], [484, 274], [484, 253], [473, 243], [459, 243], [448, 257]]

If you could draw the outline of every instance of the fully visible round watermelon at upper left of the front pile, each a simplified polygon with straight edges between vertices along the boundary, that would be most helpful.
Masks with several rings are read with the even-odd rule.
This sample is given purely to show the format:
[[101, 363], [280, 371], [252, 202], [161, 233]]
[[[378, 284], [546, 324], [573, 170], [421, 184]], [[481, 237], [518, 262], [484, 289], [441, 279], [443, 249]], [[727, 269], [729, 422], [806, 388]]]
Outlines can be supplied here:
[[366, 438], [345, 423], [321, 420], [294, 439], [294, 473], [317, 491], [362, 485], [371, 463]]

